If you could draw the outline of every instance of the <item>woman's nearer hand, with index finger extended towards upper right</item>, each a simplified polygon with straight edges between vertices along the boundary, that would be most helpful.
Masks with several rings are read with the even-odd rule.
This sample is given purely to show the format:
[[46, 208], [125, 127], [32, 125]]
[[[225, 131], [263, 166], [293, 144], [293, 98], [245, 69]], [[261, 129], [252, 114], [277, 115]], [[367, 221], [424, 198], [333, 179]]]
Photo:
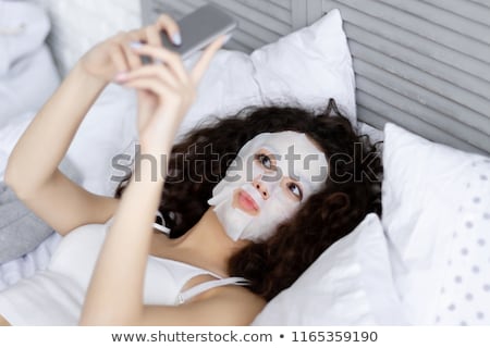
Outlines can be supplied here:
[[148, 112], [147, 108], [138, 115], [142, 150], [161, 154], [173, 142], [183, 116], [195, 99], [197, 86], [223, 41], [224, 37], [220, 37], [209, 45], [191, 72], [185, 70], [179, 54], [161, 46], [133, 46], [139, 55], [149, 55], [157, 62], [118, 76], [118, 82], [124, 86], [154, 99], [152, 110]]

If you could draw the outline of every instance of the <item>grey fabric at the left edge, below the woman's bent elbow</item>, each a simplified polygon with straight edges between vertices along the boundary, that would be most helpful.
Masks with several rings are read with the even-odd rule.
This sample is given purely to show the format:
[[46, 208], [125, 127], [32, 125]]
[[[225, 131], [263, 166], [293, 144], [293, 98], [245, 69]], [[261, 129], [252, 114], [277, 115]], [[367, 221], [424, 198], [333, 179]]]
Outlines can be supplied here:
[[53, 233], [0, 182], [0, 263], [34, 250]]

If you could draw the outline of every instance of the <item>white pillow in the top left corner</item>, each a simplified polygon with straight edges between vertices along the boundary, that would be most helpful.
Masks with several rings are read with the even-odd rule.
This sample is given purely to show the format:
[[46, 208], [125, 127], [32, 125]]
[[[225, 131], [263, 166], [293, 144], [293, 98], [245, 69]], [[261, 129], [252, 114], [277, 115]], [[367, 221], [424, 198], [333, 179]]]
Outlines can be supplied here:
[[0, 2], [0, 128], [38, 110], [60, 83], [45, 39], [50, 24], [38, 4]]

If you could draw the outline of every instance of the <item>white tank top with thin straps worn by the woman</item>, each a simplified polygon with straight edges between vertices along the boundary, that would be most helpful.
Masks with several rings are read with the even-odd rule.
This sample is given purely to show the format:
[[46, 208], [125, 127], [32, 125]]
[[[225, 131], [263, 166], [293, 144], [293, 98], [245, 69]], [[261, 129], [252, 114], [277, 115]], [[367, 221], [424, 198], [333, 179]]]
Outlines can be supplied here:
[[[107, 226], [85, 225], [66, 235], [45, 271], [0, 293], [0, 315], [12, 325], [76, 325]], [[201, 274], [218, 279], [182, 291], [191, 278]], [[183, 262], [149, 256], [144, 303], [180, 304], [209, 288], [228, 284], [245, 285], [246, 281], [220, 278]]]

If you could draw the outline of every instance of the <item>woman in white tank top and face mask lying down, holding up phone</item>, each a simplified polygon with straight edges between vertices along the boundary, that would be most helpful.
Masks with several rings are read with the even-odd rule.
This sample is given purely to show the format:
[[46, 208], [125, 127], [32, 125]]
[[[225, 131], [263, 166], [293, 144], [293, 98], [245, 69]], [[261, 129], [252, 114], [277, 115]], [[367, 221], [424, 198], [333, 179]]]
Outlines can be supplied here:
[[[46, 272], [0, 294], [3, 325], [249, 324], [373, 210], [377, 177], [362, 176], [371, 148], [356, 146], [348, 121], [328, 117], [330, 108], [321, 117], [254, 110], [195, 130], [172, 151], [223, 39], [187, 73], [160, 46], [160, 30], [179, 33], [162, 16], [90, 50], [16, 145], [5, 181], [66, 237]], [[157, 63], [142, 66], [140, 55]], [[151, 159], [137, 163], [118, 198], [87, 192], [58, 170], [112, 79], [138, 92], [140, 154]], [[370, 164], [379, 173], [379, 159]], [[164, 224], [155, 224], [156, 212]], [[160, 233], [168, 229], [170, 238]]]

